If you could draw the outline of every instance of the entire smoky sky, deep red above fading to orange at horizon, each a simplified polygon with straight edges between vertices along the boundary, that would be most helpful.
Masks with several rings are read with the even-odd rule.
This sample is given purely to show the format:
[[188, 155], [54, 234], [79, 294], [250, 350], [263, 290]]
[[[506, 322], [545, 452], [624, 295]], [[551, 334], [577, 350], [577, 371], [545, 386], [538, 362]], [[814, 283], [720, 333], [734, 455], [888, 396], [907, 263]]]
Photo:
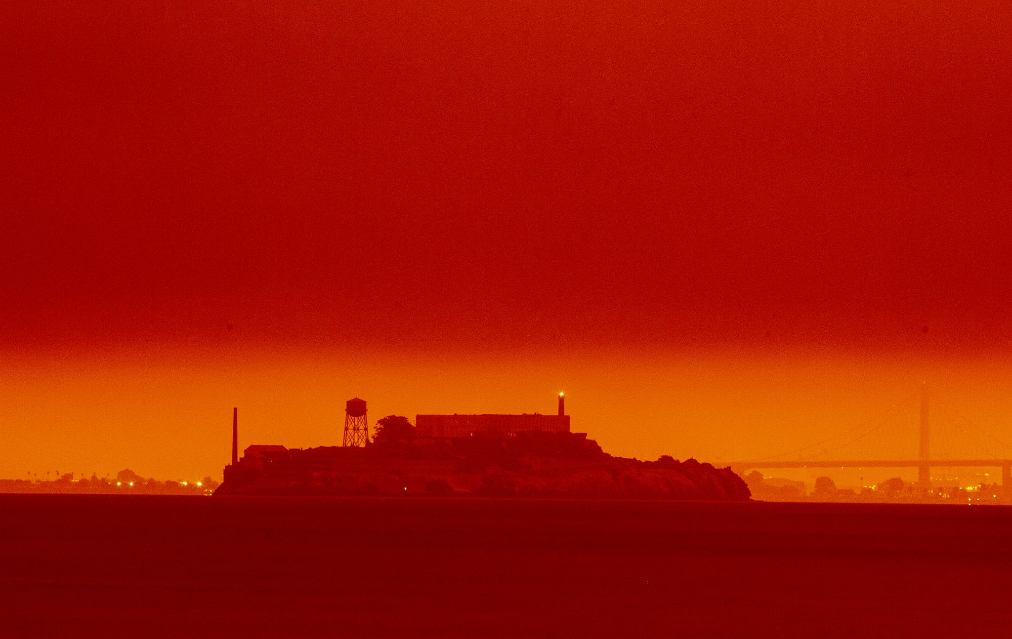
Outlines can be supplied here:
[[[0, 476], [391, 413], [753, 457], [929, 381], [1012, 442], [1012, 6], [0, 8]], [[911, 451], [914, 454], [914, 451]]]

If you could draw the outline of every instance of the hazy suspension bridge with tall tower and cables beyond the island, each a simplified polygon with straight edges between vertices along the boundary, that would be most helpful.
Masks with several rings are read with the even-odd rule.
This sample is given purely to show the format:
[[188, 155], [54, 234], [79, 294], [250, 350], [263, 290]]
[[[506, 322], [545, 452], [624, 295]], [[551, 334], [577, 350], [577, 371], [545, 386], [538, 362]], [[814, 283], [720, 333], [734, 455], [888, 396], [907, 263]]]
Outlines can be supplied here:
[[[918, 396], [916, 423], [911, 424], [910, 408], [916, 408]], [[939, 442], [942, 445], [935, 446]], [[1012, 459], [1007, 449], [988, 429], [951, 405], [932, 401], [925, 384], [919, 393], [848, 431], [779, 455], [721, 462], [720, 467], [731, 466], [740, 475], [775, 468], [916, 468], [918, 491], [925, 495], [931, 491], [932, 468], [996, 468], [1001, 469], [1002, 495], [1012, 501]]]

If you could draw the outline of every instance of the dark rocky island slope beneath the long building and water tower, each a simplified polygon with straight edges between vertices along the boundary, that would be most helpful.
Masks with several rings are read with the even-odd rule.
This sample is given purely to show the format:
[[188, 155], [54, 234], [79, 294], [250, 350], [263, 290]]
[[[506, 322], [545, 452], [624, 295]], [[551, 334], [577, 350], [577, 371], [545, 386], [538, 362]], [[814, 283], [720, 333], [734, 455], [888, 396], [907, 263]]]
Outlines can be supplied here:
[[216, 495], [397, 495], [748, 500], [730, 468], [614, 457], [582, 433], [250, 446]]

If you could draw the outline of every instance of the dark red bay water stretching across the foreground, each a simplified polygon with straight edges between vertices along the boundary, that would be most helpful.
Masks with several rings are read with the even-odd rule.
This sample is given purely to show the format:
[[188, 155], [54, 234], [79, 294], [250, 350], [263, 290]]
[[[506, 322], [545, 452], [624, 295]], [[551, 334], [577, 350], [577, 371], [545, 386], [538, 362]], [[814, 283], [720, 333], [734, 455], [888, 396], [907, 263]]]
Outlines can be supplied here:
[[1012, 508], [0, 495], [0, 636], [972, 637]]

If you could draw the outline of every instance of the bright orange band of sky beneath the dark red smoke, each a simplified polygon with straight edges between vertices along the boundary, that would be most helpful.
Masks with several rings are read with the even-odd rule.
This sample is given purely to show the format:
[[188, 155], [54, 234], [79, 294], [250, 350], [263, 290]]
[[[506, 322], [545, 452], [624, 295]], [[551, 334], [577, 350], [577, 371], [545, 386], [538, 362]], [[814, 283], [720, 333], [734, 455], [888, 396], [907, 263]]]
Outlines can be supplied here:
[[[368, 400], [374, 424], [391, 414], [412, 420], [419, 413], [552, 414], [559, 389], [567, 392], [573, 429], [590, 433], [608, 452], [732, 461], [849, 430], [916, 393], [911, 380], [925, 371], [939, 401], [1012, 441], [1007, 361], [575, 349], [517, 357], [375, 351], [275, 357], [222, 349], [166, 357], [158, 349], [18, 357], [9, 364], [0, 397], [4, 477], [123, 467], [161, 478], [218, 476], [228, 461], [233, 405], [240, 408], [242, 447], [306, 447], [340, 444], [344, 400], [354, 395]], [[906, 418], [916, 423], [912, 405]], [[904, 426], [910, 424], [896, 428]], [[915, 440], [909, 448], [915, 456]]]

